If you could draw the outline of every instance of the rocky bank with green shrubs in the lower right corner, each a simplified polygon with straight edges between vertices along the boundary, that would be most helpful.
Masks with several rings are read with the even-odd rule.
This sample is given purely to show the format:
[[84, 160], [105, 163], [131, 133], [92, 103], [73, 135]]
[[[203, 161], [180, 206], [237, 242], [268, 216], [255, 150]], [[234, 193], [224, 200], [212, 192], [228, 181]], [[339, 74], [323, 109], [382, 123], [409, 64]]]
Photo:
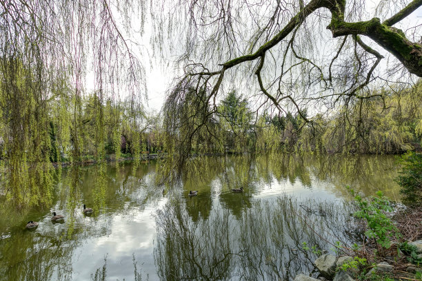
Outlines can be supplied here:
[[298, 274], [294, 281], [422, 280], [422, 154], [408, 152], [396, 178], [403, 203], [377, 196], [354, 196], [353, 216], [364, 230], [359, 244], [334, 245], [336, 255], [317, 251], [319, 275]]

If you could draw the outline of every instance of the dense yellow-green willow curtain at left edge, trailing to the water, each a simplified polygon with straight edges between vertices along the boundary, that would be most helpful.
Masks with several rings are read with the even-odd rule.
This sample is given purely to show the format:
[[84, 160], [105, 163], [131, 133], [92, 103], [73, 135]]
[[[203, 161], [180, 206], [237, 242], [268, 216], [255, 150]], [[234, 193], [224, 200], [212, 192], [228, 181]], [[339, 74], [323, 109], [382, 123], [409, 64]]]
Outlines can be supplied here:
[[0, 60], [0, 81], [6, 196], [18, 209], [48, 205], [53, 185], [50, 159], [54, 160], [57, 143], [46, 93], [37, 90], [36, 74], [18, 56]]

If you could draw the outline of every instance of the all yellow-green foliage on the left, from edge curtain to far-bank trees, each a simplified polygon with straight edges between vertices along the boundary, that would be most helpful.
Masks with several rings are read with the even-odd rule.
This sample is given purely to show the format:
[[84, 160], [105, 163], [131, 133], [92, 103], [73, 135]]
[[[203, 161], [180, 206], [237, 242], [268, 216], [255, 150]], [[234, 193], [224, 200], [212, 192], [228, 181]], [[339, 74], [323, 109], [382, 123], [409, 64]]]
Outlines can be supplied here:
[[[104, 101], [99, 92], [75, 94], [66, 75], [49, 90], [37, 79], [30, 63], [0, 60], [1, 174], [6, 198], [17, 209], [50, 205], [52, 162], [102, 161], [107, 147], [121, 152], [121, 135], [132, 143], [132, 132], [143, 129], [145, 115], [130, 103]], [[125, 152], [133, 147], [126, 145]]]

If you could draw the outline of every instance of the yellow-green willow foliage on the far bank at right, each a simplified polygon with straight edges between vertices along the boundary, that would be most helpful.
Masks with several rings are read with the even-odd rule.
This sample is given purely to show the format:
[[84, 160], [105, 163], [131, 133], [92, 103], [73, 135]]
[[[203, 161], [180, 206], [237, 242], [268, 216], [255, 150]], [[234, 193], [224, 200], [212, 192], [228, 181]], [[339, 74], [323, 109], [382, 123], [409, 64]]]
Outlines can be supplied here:
[[294, 145], [328, 153], [396, 154], [418, 147], [422, 136], [422, 83], [365, 94], [382, 95], [348, 104], [330, 117], [316, 114]]

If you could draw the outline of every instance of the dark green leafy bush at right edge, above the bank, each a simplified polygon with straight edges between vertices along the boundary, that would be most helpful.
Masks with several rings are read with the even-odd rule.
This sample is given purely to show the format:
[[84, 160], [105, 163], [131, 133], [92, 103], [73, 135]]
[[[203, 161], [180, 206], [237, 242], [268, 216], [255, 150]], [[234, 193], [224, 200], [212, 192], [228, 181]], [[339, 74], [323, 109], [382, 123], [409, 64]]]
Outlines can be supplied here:
[[401, 164], [403, 169], [396, 182], [401, 186], [403, 202], [422, 202], [422, 154], [408, 152], [401, 157]]

